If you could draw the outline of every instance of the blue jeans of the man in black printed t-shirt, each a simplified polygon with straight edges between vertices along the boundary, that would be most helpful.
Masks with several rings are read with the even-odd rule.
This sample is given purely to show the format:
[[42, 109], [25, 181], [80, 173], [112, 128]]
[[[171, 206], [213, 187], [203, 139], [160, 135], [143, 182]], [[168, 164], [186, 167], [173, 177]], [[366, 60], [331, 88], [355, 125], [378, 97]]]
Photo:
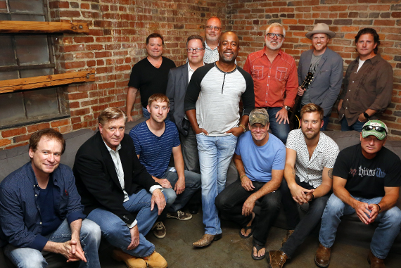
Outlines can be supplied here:
[[[352, 198], [363, 203], [377, 204], [381, 201], [382, 197], [367, 199], [352, 196]], [[320, 243], [326, 248], [331, 248], [336, 239], [338, 224], [341, 222], [340, 217], [353, 213], [355, 213], [355, 210], [350, 205], [343, 203], [333, 193], [329, 201], [327, 201], [322, 216], [322, 226], [319, 232]], [[378, 222], [378, 227], [374, 231], [373, 238], [371, 238], [371, 253], [379, 259], [386, 259], [397, 234], [400, 232], [401, 210], [393, 207], [390, 210], [383, 211], [378, 214], [375, 222]]]

